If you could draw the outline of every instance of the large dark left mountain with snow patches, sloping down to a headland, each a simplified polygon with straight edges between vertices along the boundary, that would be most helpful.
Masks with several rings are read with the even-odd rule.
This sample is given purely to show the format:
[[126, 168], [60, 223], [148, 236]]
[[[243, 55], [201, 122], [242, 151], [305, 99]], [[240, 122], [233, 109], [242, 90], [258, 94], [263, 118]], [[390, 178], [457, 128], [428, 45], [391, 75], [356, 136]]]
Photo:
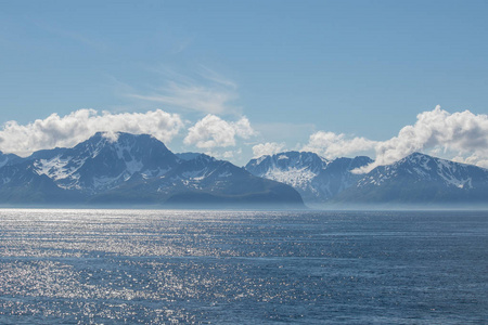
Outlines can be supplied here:
[[17, 158], [0, 167], [2, 203], [303, 205], [291, 186], [206, 155], [179, 158], [146, 134], [97, 133], [72, 148]]

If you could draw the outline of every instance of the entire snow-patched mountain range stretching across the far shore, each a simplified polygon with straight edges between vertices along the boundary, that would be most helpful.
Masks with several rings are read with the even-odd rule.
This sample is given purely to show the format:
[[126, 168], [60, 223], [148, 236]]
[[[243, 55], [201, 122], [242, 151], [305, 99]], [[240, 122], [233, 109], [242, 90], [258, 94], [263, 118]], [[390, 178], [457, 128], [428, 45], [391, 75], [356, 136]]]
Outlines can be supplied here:
[[171, 153], [146, 134], [104, 133], [28, 157], [0, 153], [0, 204], [271, 206], [488, 203], [488, 170], [413, 153], [369, 173], [365, 156], [284, 152], [245, 168]]

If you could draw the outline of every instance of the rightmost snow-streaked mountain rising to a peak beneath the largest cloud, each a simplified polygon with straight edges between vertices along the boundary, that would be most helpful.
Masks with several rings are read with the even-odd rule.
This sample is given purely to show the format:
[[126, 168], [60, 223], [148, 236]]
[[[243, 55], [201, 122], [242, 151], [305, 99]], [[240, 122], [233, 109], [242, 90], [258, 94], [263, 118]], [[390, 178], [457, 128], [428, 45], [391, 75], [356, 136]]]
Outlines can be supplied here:
[[351, 203], [487, 203], [488, 170], [413, 153], [341, 193]]

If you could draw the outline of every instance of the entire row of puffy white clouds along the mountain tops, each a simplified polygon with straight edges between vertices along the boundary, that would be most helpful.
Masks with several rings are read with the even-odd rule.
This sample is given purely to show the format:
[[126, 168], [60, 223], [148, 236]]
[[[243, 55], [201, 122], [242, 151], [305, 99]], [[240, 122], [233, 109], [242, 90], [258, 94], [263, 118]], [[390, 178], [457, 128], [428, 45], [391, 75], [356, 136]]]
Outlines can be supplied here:
[[[0, 151], [28, 156], [39, 150], [74, 146], [95, 132], [117, 131], [147, 133], [169, 143], [184, 129], [185, 123], [180, 115], [160, 109], [123, 114], [79, 109], [66, 116], [52, 114], [27, 125], [5, 122], [0, 128]], [[183, 143], [214, 156], [232, 158], [235, 155], [242, 157], [242, 147], [237, 141], [255, 135], [257, 132], [246, 117], [228, 121], [208, 114], [187, 130]], [[285, 143], [264, 142], [252, 150], [254, 157], [259, 157], [282, 152], [285, 146]], [[309, 136], [305, 146], [297, 148], [314, 152], [329, 159], [375, 153], [373, 164], [356, 170], [360, 173], [376, 166], [393, 164], [413, 152], [488, 168], [488, 116], [475, 115], [470, 110], [450, 114], [437, 106], [419, 114], [414, 125], [403, 127], [397, 136], [386, 141], [318, 131]]]

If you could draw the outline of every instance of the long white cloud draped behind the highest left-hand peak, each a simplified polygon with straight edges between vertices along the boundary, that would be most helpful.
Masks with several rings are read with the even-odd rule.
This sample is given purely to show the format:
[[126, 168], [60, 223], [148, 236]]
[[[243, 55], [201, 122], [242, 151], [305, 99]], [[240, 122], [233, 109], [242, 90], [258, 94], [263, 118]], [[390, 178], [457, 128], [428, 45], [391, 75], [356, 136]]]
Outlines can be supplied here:
[[147, 133], [168, 143], [182, 127], [178, 114], [160, 109], [123, 114], [79, 109], [62, 117], [52, 114], [28, 125], [8, 121], [0, 130], [0, 151], [27, 156], [38, 150], [74, 146], [99, 131]]

